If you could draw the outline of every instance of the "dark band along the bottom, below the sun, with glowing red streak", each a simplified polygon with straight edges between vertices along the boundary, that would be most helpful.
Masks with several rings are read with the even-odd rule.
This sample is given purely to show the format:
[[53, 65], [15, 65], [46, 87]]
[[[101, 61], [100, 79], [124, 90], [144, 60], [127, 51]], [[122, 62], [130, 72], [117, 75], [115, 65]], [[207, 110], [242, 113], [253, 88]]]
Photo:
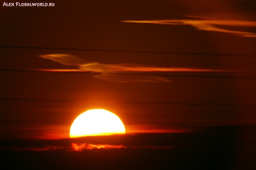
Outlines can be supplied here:
[[[252, 169], [256, 124], [193, 133], [0, 139], [1, 169]], [[73, 145], [76, 144], [76, 145]], [[90, 144], [93, 144], [90, 145]], [[245, 145], [246, 144], [246, 145]], [[73, 148], [73, 147], [83, 148]], [[105, 147], [102, 147], [105, 146]], [[97, 148], [99, 147], [99, 148]], [[254, 162], [255, 163], [255, 162]], [[26, 165], [26, 166], [25, 166]]]

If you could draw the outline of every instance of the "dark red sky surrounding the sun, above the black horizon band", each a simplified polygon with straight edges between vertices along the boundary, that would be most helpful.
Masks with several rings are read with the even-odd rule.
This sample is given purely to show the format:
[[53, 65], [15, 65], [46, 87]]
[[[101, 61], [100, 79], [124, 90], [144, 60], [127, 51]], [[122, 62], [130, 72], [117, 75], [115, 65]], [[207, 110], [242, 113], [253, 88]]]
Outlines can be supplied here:
[[[54, 3], [54, 7], [2, 7], [0, 45], [251, 57], [0, 48], [0, 69], [51, 70], [0, 72], [3, 138], [67, 138], [73, 120], [87, 109], [114, 112], [127, 133], [256, 122], [256, 79], [56, 72], [256, 77], [255, 0]], [[127, 20], [133, 22], [120, 22]], [[151, 23], [134, 22], [145, 20]], [[157, 24], [155, 20], [169, 21]], [[174, 20], [176, 25], [170, 24]], [[52, 54], [61, 58], [49, 59]], [[87, 63], [96, 66], [88, 68]], [[250, 104], [254, 106], [244, 106]]]

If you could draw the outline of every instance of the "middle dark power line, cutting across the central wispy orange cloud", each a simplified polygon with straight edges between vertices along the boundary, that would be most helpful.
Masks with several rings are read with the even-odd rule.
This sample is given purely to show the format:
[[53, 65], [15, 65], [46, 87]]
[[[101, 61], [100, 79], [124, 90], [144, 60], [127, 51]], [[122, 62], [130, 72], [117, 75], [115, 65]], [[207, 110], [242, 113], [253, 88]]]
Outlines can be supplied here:
[[[44, 70], [29, 70], [29, 69], [0, 69], [0, 71], [12, 71], [12, 72], [54, 72]], [[54, 73], [73, 73], [73, 74], [93, 74], [93, 75], [134, 75], [134, 76], [161, 76], [161, 77], [189, 77], [189, 78], [234, 78], [234, 79], [256, 79], [256, 77], [242, 77], [242, 76], [212, 76], [212, 75], [167, 75], [167, 74], [142, 74], [142, 73], [102, 73], [102, 72], [70, 72], [61, 71]]]

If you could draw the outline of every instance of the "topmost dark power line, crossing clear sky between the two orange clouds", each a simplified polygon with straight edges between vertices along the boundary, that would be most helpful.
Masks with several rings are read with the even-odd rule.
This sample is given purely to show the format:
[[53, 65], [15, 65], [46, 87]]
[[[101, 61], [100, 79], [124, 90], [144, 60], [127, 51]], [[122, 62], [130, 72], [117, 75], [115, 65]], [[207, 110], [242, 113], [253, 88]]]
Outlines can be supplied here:
[[91, 52], [125, 52], [125, 53], [147, 53], [147, 54], [170, 54], [170, 55], [210, 55], [210, 56], [227, 56], [227, 57], [256, 57], [256, 55], [243, 55], [243, 54], [217, 54], [217, 53], [194, 53], [194, 52], [159, 52], [159, 51], [136, 51], [136, 50], [115, 50], [115, 49], [58, 48], [58, 47], [38, 47], [38, 46], [0, 46], [0, 48], [51, 49], [51, 50], [91, 51]]

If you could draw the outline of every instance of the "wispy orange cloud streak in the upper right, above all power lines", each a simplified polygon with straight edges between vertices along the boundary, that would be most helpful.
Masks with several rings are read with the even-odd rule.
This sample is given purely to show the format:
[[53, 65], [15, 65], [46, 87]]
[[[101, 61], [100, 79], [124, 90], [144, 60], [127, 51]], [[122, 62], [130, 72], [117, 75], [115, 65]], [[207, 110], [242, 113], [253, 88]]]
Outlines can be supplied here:
[[197, 17], [197, 16], [186, 16], [194, 17], [198, 19], [180, 19], [180, 20], [125, 20], [121, 22], [127, 23], [154, 23], [163, 25], [190, 25], [197, 30], [224, 32], [242, 37], [256, 37], [256, 33], [243, 32], [243, 31], [232, 31], [228, 29], [218, 28], [218, 26], [239, 26], [239, 27], [256, 27], [256, 21], [247, 20], [223, 20], [213, 17]]

